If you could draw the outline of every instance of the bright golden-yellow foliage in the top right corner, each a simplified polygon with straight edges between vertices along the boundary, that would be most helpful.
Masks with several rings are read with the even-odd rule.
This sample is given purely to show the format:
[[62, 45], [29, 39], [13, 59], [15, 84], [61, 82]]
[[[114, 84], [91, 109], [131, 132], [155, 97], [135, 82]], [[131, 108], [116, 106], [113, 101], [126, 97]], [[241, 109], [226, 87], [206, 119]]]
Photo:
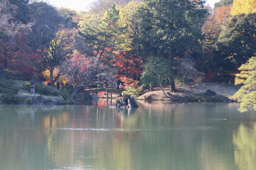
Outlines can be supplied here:
[[256, 0], [234, 0], [230, 14], [235, 16], [240, 13], [247, 14], [254, 12], [256, 12]]

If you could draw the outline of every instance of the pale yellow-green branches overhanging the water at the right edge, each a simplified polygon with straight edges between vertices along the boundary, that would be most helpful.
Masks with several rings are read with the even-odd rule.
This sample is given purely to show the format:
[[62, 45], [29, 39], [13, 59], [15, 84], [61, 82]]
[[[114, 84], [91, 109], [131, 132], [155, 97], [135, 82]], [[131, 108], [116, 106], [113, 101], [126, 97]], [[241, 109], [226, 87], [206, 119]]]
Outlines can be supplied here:
[[256, 57], [251, 57], [248, 62], [239, 67], [240, 73], [235, 76], [235, 84], [242, 84], [235, 93], [235, 98], [240, 102], [240, 112], [256, 111]]

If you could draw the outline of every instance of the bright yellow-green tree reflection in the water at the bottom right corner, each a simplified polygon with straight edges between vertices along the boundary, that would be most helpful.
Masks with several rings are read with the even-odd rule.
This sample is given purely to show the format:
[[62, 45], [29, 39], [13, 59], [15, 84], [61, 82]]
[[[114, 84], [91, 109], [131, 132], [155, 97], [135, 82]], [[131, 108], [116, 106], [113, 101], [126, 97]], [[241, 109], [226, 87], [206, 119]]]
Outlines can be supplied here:
[[251, 127], [240, 125], [233, 133], [235, 145], [235, 164], [243, 170], [254, 170], [256, 167], [256, 123]]

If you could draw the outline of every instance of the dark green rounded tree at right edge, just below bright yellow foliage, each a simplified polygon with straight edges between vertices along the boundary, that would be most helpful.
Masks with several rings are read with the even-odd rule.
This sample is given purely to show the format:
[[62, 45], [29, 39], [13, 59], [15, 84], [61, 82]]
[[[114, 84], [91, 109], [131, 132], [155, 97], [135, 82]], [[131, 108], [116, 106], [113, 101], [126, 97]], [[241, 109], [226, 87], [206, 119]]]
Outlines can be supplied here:
[[256, 13], [233, 16], [216, 42], [215, 61], [222, 72], [235, 72], [236, 67], [255, 55]]

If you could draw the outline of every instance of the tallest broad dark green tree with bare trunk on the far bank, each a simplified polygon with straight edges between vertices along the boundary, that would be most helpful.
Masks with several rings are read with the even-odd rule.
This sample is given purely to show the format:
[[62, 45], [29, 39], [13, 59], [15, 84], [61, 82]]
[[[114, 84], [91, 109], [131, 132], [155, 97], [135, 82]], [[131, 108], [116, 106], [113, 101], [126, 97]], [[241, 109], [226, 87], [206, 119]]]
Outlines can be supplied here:
[[137, 9], [140, 54], [144, 60], [150, 55], [168, 59], [171, 91], [174, 58], [189, 48], [199, 50], [206, 13], [203, 1], [190, 0], [145, 0]]

